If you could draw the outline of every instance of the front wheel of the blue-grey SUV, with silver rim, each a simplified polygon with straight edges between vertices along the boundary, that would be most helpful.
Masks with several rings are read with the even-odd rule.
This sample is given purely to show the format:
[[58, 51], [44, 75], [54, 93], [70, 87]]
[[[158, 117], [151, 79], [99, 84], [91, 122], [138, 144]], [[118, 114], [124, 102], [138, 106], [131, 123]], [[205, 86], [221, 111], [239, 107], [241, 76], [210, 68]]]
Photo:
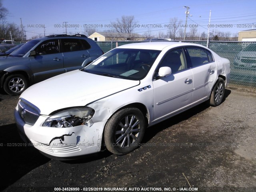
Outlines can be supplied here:
[[21, 74], [11, 74], [4, 81], [4, 91], [12, 96], [22, 94], [26, 88], [28, 88], [28, 80]]

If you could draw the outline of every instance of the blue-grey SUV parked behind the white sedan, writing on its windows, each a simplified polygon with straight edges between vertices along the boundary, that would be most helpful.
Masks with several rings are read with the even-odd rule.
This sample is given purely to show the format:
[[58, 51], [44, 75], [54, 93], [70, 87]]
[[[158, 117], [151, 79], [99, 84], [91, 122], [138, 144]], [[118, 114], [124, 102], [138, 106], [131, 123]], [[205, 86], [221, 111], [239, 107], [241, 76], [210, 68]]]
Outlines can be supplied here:
[[53, 35], [30, 40], [0, 58], [0, 87], [10, 95], [50, 77], [80, 69], [103, 54], [85, 35]]

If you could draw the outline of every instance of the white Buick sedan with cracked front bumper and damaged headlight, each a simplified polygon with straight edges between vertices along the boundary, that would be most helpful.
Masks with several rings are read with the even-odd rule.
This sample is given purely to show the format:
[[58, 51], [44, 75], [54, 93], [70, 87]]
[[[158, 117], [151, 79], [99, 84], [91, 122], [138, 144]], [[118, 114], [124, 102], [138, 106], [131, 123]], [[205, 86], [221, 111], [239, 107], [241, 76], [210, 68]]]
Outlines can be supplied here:
[[230, 61], [198, 44], [126, 44], [28, 88], [15, 120], [46, 156], [78, 158], [104, 146], [127, 154], [147, 127], [206, 100], [221, 104], [229, 77]]

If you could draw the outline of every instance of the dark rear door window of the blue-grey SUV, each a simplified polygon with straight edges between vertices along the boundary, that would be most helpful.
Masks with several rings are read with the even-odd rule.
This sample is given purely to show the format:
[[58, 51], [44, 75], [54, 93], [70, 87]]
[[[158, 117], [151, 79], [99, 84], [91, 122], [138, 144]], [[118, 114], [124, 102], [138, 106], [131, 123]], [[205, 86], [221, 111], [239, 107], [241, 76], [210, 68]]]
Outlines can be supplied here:
[[62, 42], [62, 52], [73, 52], [87, 50], [91, 48], [90, 44], [86, 40], [82, 39], [61, 39]]

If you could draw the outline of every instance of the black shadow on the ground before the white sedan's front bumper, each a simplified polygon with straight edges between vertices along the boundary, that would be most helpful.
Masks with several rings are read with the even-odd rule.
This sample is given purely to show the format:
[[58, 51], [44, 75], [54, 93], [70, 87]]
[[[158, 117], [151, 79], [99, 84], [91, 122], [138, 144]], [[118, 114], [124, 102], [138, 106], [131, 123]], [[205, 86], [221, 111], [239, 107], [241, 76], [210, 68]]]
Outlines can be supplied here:
[[1, 186], [0, 191], [10, 186], [34, 168], [50, 159], [32, 146], [24, 146], [15, 124], [0, 126]]

